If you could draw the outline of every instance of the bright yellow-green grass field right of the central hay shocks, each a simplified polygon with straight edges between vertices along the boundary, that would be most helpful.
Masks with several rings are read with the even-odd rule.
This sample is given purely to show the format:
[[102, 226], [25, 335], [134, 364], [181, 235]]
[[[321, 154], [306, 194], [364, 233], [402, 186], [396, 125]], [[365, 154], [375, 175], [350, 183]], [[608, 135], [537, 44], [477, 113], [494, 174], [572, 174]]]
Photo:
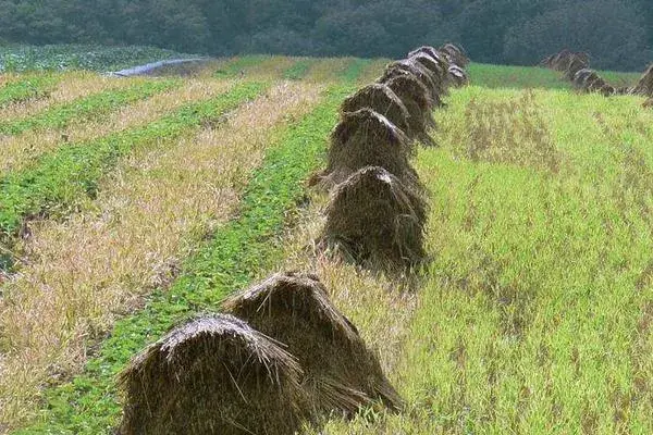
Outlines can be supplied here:
[[452, 92], [417, 158], [433, 263], [393, 374], [408, 408], [330, 434], [651, 432], [653, 132], [604, 101]]

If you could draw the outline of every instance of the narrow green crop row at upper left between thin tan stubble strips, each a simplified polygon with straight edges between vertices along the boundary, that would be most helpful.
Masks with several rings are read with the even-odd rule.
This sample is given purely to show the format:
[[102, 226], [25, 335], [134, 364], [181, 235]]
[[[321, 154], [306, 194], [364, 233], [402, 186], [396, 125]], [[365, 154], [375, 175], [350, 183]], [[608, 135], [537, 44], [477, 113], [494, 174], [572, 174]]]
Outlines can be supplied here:
[[20, 135], [29, 129], [63, 128], [72, 122], [97, 119], [122, 105], [144, 100], [180, 85], [180, 80], [143, 82], [125, 89], [94, 94], [75, 101], [52, 105], [33, 116], [0, 122], [0, 134]]

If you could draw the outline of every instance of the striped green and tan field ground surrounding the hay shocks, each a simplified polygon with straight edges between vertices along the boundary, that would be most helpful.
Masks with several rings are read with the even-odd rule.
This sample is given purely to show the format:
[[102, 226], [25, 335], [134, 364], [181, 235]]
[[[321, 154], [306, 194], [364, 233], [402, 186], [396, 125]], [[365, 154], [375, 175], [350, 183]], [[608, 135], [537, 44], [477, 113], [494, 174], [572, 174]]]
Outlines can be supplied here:
[[[383, 63], [223, 60], [197, 78], [217, 95], [1, 174], [0, 433], [111, 433], [131, 358], [281, 269], [320, 276], [406, 401], [323, 434], [653, 433], [653, 112], [472, 63], [412, 160], [431, 261], [407, 289], [310, 248], [328, 197], [306, 181]], [[181, 86], [48, 103], [61, 79], [7, 76], [0, 105], [42, 107], [0, 129], [82, 128]]]

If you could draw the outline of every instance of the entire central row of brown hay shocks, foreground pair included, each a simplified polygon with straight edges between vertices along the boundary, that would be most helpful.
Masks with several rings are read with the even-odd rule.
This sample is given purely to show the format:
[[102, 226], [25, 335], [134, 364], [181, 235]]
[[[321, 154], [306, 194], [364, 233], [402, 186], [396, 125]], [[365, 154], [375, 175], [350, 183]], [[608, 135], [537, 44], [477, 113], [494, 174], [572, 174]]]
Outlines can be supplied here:
[[[467, 61], [452, 45], [420, 48], [343, 103], [320, 177], [333, 188], [326, 245], [383, 266], [426, 258], [427, 206], [408, 157], [434, 126], [442, 92], [466, 83]], [[316, 276], [276, 274], [223, 309], [132, 361], [120, 377], [119, 433], [291, 435], [372, 403], [402, 408], [379, 360]]]

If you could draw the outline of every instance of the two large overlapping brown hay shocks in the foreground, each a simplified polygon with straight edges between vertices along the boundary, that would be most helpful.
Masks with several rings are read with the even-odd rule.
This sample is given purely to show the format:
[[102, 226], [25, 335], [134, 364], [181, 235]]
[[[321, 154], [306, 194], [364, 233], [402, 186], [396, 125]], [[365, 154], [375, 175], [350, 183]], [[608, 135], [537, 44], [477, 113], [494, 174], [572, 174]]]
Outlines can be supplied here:
[[120, 377], [123, 435], [292, 435], [402, 399], [356, 327], [309, 274], [280, 273], [226, 314], [176, 327]]

